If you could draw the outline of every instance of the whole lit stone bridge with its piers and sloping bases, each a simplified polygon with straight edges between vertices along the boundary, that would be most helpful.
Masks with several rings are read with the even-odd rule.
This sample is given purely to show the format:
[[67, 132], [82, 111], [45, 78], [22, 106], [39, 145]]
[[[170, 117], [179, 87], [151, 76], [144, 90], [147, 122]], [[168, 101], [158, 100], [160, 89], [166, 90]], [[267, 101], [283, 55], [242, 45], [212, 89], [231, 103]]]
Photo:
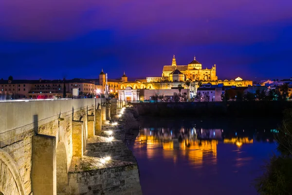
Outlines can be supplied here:
[[123, 106], [105, 98], [0, 102], [0, 195], [141, 194], [132, 153], [101, 137], [118, 129], [109, 120]]

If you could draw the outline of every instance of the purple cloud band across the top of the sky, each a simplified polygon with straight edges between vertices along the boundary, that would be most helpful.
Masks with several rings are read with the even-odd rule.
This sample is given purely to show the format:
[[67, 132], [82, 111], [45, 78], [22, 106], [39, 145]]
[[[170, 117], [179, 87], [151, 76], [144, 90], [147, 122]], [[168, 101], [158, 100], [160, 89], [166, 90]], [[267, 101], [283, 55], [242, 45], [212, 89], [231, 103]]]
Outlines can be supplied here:
[[95, 30], [113, 30], [123, 36], [147, 29], [155, 34], [159, 28], [210, 32], [218, 30], [221, 22], [252, 27], [292, 18], [291, 6], [287, 0], [1, 0], [0, 27], [6, 30], [0, 36], [52, 41]]

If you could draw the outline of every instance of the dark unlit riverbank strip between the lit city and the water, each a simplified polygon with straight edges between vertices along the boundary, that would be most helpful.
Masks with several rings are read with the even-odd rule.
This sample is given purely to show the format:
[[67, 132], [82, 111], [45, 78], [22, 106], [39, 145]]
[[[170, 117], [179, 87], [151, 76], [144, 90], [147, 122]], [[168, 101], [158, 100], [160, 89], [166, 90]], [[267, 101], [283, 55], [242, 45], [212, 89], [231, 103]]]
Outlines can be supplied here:
[[131, 102], [139, 116], [283, 117], [291, 101]]

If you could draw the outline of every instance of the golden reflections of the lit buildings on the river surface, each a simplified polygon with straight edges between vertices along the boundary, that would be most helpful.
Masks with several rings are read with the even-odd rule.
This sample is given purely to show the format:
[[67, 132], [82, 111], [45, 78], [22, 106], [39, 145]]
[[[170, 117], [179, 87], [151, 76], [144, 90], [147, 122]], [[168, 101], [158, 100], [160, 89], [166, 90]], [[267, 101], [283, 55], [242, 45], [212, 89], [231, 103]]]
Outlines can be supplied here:
[[[184, 128], [144, 128], [140, 130], [135, 140], [133, 149], [146, 149], [148, 158], [152, 158], [157, 151], [163, 149], [164, 158], [173, 159], [176, 163], [178, 155], [182, 155], [189, 160], [189, 163], [195, 167], [201, 167], [204, 159], [205, 163], [217, 163], [217, 145], [219, 143], [235, 144], [240, 148], [243, 144], [252, 144], [253, 138], [232, 137], [224, 138], [222, 129], [196, 129]], [[168, 153], [167, 151], [181, 150], [180, 153]], [[237, 152], [240, 153], [240, 150]], [[246, 161], [249, 159], [237, 158], [237, 161]]]

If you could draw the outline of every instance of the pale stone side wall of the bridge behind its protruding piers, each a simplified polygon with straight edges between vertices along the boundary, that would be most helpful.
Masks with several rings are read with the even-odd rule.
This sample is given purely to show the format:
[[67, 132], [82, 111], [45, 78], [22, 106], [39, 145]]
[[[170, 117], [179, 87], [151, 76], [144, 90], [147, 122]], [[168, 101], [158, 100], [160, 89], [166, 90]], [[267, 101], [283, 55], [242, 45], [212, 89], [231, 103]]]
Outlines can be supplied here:
[[[11, 194], [15, 191], [13, 185], [9, 186], [10, 183], [13, 183], [10, 182], [11, 177], [3, 177], [9, 166], [12, 165], [14, 166], [8, 170], [10, 173], [13, 168], [17, 170], [13, 178], [18, 186], [18, 194], [29, 195], [32, 192], [33, 135], [56, 137], [57, 152], [58, 143], [64, 143], [68, 171], [72, 158], [72, 120], [84, 121], [84, 126], [87, 128], [87, 114], [94, 114], [95, 108], [102, 101], [105, 102], [105, 99], [1, 102], [0, 150], [11, 158], [9, 164], [5, 164], [3, 155], [0, 156], [0, 184], [2, 185], [0, 189], [5, 189], [4, 194]], [[23, 193], [19, 187], [21, 185], [24, 188]]]

